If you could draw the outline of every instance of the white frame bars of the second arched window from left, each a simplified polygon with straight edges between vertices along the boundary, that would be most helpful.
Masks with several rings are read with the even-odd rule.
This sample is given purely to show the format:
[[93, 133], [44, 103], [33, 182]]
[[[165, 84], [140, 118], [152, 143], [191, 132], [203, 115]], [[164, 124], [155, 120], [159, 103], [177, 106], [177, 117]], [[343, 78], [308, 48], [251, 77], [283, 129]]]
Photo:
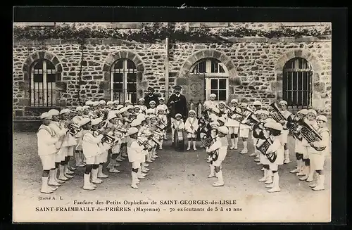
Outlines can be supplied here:
[[[114, 91], [113, 91], [113, 84], [114, 84], [114, 81], [113, 81], [113, 74], [116, 72], [115, 70], [120, 70], [120, 73], [122, 73], [122, 93], [123, 93], [123, 97], [126, 100], [131, 100], [131, 95], [127, 93], [127, 74], [129, 73], [128, 70], [134, 70], [133, 73], [135, 73], [137, 75], [137, 67], [136, 65], [134, 64], [134, 69], [128, 69], [127, 68], [127, 61], [130, 60], [130, 59], [127, 59], [127, 58], [124, 58], [123, 59], [123, 62], [122, 62], [122, 69], [115, 69], [115, 64], [118, 63], [120, 60], [117, 60], [115, 63], [113, 63], [113, 66], [111, 67], [111, 71], [110, 71], [110, 90], [111, 90], [111, 94], [110, 94], [110, 98], [111, 98], [111, 101], [114, 100], [113, 98], [113, 95], [114, 95]], [[130, 60], [132, 61], [132, 60]], [[133, 62], [133, 61], [132, 61]], [[115, 69], [115, 70], [114, 70]], [[137, 76], [136, 76], [136, 79], [137, 79]], [[137, 79], [137, 82], [135, 83], [136, 84], [136, 94], [138, 92], [138, 79]], [[123, 101], [122, 103], [124, 103], [125, 101]], [[137, 101], [134, 102], [134, 103], [137, 103], [138, 102], [138, 98], [137, 98]]]

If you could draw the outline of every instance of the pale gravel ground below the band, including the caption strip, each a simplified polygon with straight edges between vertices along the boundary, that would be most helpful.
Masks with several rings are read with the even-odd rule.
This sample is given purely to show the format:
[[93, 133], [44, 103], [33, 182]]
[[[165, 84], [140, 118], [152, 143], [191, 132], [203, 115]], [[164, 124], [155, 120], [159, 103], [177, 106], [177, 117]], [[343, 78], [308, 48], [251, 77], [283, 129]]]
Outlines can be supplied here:
[[[293, 140], [289, 142], [294, 143]], [[139, 189], [130, 187], [130, 164], [122, 162], [118, 174], [109, 174], [95, 191], [84, 191], [84, 168], [78, 168], [75, 177], [59, 187], [54, 195], [39, 192], [42, 164], [37, 155], [34, 133], [13, 135], [13, 217], [20, 222], [329, 222], [331, 158], [325, 161], [325, 191], [312, 191], [306, 181], [289, 173], [295, 165], [293, 146], [290, 146], [291, 163], [279, 168], [281, 192], [268, 193], [263, 182], [260, 166], [253, 157], [239, 154], [240, 150], [228, 151], [223, 162], [225, 186], [212, 186], [215, 179], [208, 179], [209, 167], [206, 153], [197, 151], [176, 152], [170, 148], [170, 141], [164, 142], [163, 151], [151, 163], [146, 179], [141, 179]], [[242, 144], [239, 141], [239, 148]], [[253, 149], [249, 140], [249, 150]], [[104, 167], [104, 171], [106, 167]], [[39, 198], [51, 200], [39, 200]], [[55, 197], [56, 200], [52, 200]], [[63, 200], [58, 200], [58, 199]], [[237, 200], [236, 205], [156, 205], [162, 215], [153, 212], [35, 212], [34, 207], [50, 205], [73, 205], [73, 200]], [[126, 205], [117, 205], [125, 207]], [[127, 205], [129, 206], [129, 205]], [[127, 207], [126, 206], [126, 207]], [[132, 205], [129, 207], [137, 207]], [[141, 206], [141, 205], [139, 205]], [[155, 205], [154, 205], [155, 206]], [[181, 212], [178, 207], [232, 207], [232, 212]], [[151, 207], [151, 205], [141, 206]], [[233, 212], [234, 207], [241, 211]], [[170, 208], [175, 208], [171, 212]], [[165, 209], [165, 210], [164, 210]], [[214, 213], [218, 213], [214, 215]], [[175, 215], [176, 214], [176, 215]], [[17, 220], [15, 220], [17, 222]]]

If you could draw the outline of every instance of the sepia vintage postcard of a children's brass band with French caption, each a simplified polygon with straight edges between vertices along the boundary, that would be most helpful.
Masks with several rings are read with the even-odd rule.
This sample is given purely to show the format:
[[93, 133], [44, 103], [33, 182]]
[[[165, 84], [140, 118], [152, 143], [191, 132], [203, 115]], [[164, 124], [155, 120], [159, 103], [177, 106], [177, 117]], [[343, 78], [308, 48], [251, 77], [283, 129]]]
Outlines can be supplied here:
[[13, 222], [330, 222], [331, 35], [13, 23]]

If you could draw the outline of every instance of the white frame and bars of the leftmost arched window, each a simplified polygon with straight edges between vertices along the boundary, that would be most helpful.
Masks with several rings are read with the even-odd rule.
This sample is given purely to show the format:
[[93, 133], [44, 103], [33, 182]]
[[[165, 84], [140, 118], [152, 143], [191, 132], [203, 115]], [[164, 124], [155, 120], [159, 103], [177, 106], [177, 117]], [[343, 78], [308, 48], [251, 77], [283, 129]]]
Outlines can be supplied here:
[[[49, 89], [56, 89], [56, 82], [53, 82], [53, 87], [51, 87], [51, 84], [47, 84], [46, 82], [46, 63], [50, 62], [49, 60], [43, 59], [43, 60], [39, 60], [43, 63], [43, 68], [42, 68], [42, 75], [43, 75], [43, 82], [42, 84], [39, 84], [39, 88], [37, 88], [36, 90], [39, 91], [43, 91], [43, 95], [44, 96], [44, 101], [37, 98], [36, 100], [38, 100], [38, 103], [36, 103], [36, 101], [34, 101], [34, 65], [37, 65], [37, 63], [34, 63], [34, 65], [32, 65], [31, 71], [30, 71], [30, 105], [33, 107], [51, 107], [51, 105], [46, 106], [46, 104], [48, 103], [48, 91]], [[54, 70], [54, 73], [56, 73], [56, 70]], [[55, 100], [55, 93], [53, 94], [54, 96], [54, 100]], [[51, 99], [53, 100], [53, 99]], [[43, 101], [43, 104], [41, 106], [41, 101]]]

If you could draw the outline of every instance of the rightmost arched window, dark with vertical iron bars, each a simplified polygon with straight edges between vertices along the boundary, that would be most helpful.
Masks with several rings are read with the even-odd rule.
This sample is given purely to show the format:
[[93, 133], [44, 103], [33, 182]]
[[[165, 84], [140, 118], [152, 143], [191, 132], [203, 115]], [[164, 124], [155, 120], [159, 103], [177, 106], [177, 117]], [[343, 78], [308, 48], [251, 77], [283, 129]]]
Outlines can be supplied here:
[[313, 71], [304, 58], [292, 58], [284, 65], [282, 97], [291, 108], [308, 108], [311, 103]]

